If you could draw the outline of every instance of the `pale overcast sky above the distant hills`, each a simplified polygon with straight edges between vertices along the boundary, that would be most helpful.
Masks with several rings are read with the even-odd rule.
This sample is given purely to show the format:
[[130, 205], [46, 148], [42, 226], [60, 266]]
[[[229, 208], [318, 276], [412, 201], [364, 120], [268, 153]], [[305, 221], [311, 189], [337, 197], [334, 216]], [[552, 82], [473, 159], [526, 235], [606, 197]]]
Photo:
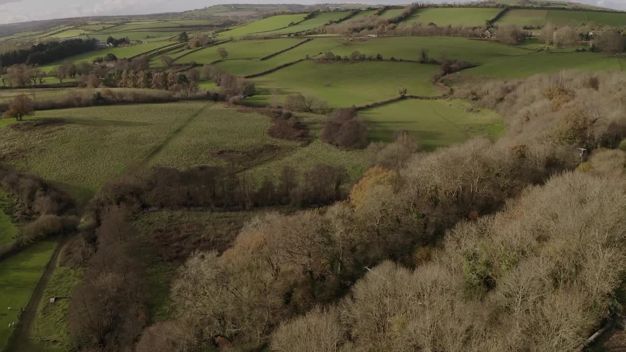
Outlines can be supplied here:
[[[0, 0], [0, 23], [33, 21], [36, 19], [68, 18], [96, 15], [147, 14], [180, 12], [223, 3], [275, 4], [275, 3], [354, 3], [357, 1], [316, 0]], [[411, 3], [406, 0], [364, 0], [362, 4]], [[448, 1], [453, 2], [453, 1]], [[626, 0], [580, 0], [607, 8], [626, 10]]]

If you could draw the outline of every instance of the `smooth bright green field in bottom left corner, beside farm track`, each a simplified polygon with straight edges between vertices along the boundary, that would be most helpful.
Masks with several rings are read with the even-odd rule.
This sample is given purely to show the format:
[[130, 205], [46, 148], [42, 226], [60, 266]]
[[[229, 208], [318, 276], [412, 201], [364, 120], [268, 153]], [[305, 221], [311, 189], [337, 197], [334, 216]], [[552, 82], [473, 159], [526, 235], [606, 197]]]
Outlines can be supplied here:
[[[56, 242], [43, 241], [31, 244], [17, 254], [0, 261], [0, 348], [8, 342], [13, 329], [9, 324], [17, 321], [19, 309], [24, 308], [43, 269], [48, 264]], [[7, 308], [11, 308], [8, 310]]]

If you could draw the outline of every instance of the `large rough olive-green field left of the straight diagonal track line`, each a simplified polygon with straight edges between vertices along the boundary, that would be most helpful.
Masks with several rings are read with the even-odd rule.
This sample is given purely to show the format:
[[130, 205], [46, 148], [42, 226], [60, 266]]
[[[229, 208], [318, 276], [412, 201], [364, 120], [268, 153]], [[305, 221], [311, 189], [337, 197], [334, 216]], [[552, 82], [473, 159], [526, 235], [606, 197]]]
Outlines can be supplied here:
[[38, 111], [34, 118], [62, 118], [65, 125], [21, 132], [0, 129], [3, 150], [19, 150], [8, 160], [70, 192], [83, 202], [165, 143], [205, 101], [153, 105], [95, 106]]

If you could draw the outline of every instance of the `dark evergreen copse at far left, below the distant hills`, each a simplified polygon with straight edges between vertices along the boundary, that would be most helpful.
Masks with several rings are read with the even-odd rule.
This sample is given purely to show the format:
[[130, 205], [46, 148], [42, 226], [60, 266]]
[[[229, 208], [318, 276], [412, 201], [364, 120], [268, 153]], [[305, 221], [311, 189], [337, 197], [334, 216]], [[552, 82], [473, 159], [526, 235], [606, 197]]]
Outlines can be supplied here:
[[0, 66], [19, 64], [43, 65], [63, 60], [69, 56], [86, 53], [96, 48], [95, 39], [71, 39], [60, 42], [39, 43], [30, 49], [20, 49], [0, 54]]

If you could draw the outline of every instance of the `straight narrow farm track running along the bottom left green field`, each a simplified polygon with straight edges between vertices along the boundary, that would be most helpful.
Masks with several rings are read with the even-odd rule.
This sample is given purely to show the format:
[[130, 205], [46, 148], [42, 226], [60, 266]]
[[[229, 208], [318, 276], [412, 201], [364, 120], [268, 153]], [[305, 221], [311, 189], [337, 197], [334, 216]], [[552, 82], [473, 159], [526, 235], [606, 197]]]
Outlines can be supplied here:
[[13, 332], [15, 338], [11, 339], [9, 344], [4, 349], [4, 352], [18, 352], [20, 351], [18, 349], [20, 346], [28, 346], [33, 321], [37, 315], [37, 308], [41, 303], [43, 292], [46, 290], [48, 282], [50, 281], [54, 269], [56, 268], [56, 264], [59, 260], [59, 254], [61, 253], [63, 247], [65, 247], [67, 241], [67, 236], [63, 236], [59, 239], [59, 243], [56, 245], [48, 264], [46, 264], [46, 269], [44, 269], [43, 274], [41, 274], [41, 278], [39, 279], [39, 282], [37, 282], [37, 286], [35, 286], [33, 294], [31, 294], [31, 298], [28, 300], [28, 303], [26, 303], [26, 307], [24, 307], [22, 318], [18, 327]]

